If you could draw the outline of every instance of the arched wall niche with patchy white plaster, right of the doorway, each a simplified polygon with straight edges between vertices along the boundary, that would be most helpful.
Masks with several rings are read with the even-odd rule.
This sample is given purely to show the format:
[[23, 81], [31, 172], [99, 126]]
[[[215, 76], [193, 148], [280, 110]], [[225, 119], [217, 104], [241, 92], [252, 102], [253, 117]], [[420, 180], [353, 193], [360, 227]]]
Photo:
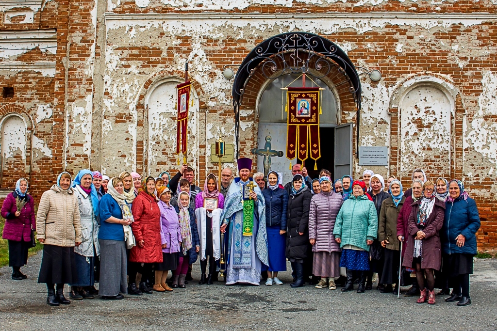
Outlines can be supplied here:
[[441, 84], [421, 81], [399, 102], [399, 175], [410, 182], [415, 168], [429, 179], [450, 178], [455, 102]]

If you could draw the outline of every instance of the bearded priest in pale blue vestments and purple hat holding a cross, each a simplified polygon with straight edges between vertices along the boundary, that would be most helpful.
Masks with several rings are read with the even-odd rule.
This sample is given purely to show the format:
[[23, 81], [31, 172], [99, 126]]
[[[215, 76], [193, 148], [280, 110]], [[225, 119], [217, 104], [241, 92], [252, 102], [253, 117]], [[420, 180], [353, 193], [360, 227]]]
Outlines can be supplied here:
[[221, 232], [229, 227], [226, 285], [259, 285], [261, 266], [268, 264], [264, 198], [249, 177], [252, 160], [237, 163], [240, 177], [231, 183], [221, 216]]

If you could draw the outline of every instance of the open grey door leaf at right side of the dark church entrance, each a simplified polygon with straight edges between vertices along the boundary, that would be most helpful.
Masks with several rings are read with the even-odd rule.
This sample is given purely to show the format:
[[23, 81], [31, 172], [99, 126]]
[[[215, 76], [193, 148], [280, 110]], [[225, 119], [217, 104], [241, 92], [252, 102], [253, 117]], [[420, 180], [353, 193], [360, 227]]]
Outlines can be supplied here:
[[334, 178], [352, 175], [352, 123], [335, 128]]

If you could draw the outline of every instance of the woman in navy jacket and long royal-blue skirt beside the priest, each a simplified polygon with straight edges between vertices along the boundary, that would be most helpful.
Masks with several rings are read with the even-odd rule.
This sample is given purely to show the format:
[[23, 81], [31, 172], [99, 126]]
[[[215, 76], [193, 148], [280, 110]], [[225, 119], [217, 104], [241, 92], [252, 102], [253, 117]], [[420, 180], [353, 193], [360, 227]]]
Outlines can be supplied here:
[[[262, 265], [267, 272], [266, 285], [281, 285], [279, 271], [286, 271], [286, 224], [288, 193], [278, 185], [279, 175], [271, 170], [267, 174], [267, 189], [262, 191], [266, 205], [267, 254], [269, 265]], [[198, 195], [197, 195], [198, 197]]]

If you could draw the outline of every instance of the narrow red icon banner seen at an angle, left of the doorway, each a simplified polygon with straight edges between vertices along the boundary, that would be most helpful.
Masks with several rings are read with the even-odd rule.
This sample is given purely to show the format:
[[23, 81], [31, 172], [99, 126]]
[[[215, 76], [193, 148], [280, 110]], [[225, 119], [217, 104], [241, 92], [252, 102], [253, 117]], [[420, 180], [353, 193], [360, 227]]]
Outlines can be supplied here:
[[[181, 151], [183, 153], [183, 162], [186, 163], [186, 146], [188, 142], [187, 132], [188, 132], [188, 109], [190, 106], [190, 89], [191, 82], [186, 81], [184, 83], [176, 85], [178, 90], [178, 99], [176, 108], [178, 110], [177, 114], [177, 133], [176, 133], [176, 154]], [[193, 102], [193, 100], [192, 100]], [[179, 162], [179, 160], [178, 160]]]

